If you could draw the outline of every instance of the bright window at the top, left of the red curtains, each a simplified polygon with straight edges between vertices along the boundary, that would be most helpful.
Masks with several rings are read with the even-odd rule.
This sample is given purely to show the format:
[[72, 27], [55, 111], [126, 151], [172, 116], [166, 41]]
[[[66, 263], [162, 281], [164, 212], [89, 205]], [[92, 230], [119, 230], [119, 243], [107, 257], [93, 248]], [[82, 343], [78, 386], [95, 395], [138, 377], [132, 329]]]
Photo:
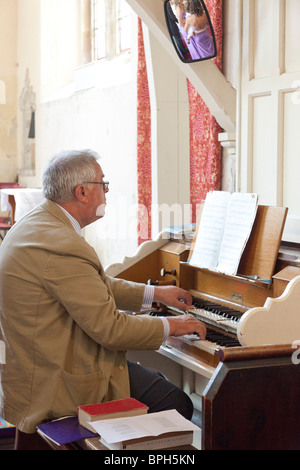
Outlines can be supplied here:
[[93, 60], [131, 49], [130, 7], [125, 0], [91, 0]]

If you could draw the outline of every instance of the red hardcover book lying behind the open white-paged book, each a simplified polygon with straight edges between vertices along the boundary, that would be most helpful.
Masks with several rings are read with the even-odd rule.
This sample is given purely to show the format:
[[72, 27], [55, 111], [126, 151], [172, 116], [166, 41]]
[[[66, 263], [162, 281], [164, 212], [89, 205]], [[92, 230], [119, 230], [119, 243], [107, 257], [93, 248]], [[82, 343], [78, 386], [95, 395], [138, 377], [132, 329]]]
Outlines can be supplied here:
[[81, 405], [77, 408], [79, 423], [92, 432], [94, 432], [94, 429], [88, 424], [90, 422], [100, 419], [136, 416], [146, 414], [147, 411], [148, 406], [135, 400], [135, 398], [123, 398], [121, 400], [112, 400], [104, 403]]

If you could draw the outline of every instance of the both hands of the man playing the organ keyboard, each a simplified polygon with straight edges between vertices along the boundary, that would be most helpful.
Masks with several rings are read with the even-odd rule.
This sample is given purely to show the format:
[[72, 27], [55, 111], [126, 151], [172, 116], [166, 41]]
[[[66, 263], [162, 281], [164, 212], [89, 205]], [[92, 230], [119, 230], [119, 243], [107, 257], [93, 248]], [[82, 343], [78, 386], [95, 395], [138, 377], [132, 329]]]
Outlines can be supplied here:
[[[192, 296], [189, 292], [176, 286], [156, 286], [154, 301], [186, 312], [192, 305]], [[197, 333], [200, 339], [205, 339], [206, 327], [204, 323], [196, 320], [192, 315], [178, 315], [166, 318], [170, 324], [171, 336]]]

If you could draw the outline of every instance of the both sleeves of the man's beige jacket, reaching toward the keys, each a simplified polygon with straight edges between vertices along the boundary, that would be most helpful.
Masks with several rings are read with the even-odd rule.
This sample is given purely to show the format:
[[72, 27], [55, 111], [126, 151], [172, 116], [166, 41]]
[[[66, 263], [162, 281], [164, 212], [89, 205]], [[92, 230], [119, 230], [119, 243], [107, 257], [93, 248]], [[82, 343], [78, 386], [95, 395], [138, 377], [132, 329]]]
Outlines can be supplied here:
[[[44, 287], [94, 341], [112, 350], [158, 349], [164, 327], [159, 318], [127, 315], [122, 306], [140, 306], [143, 285], [111, 280], [90, 259], [49, 254]], [[122, 298], [123, 296], [123, 298]], [[128, 307], [127, 307], [128, 308]]]

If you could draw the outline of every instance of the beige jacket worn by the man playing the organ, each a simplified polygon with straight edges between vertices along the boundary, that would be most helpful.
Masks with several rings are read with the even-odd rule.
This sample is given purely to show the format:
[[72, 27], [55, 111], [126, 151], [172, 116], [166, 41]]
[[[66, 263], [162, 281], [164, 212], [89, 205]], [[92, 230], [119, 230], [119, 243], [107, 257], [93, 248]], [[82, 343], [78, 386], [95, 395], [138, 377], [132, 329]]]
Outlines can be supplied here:
[[130, 395], [127, 349], [157, 349], [159, 318], [134, 316], [144, 286], [108, 278], [94, 249], [45, 200], [0, 247], [0, 416], [20, 430]]

